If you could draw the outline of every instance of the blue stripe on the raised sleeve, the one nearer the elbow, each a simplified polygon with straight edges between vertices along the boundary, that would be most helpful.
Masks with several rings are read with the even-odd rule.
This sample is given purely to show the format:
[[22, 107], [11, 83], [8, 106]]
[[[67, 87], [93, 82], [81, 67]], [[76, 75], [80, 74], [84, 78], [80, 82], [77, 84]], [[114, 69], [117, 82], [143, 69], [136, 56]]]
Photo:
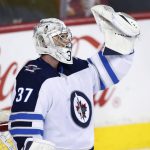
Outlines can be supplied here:
[[100, 59], [102, 60], [102, 63], [104, 65], [105, 69], [107, 70], [110, 78], [112, 79], [113, 83], [118, 83], [119, 79], [117, 78], [114, 71], [112, 70], [108, 60], [106, 59], [106, 57], [104, 55], [102, 55], [101, 51], [98, 54], [99, 54]]

